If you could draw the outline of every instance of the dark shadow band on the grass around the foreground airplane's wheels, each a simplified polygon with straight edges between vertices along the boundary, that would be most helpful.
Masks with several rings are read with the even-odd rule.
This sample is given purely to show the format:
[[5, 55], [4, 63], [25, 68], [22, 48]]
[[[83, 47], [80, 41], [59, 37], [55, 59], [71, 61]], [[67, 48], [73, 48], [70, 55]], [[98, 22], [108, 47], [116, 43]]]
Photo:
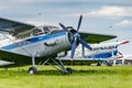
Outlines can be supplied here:
[[[19, 69], [19, 70], [4, 70], [1, 69], [1, 73], [11, 73], [11, 74], [21, 74], [22, 75], [28, 75], [28, 69]], [[108, 75], [113, 75], [113, 74], [120, 74], [121, 70], [116, 70], [116, 69], [74, 69], [74, 73], [72, 75], [103, 75], [103, 74], [108, 74]], [[44, 75], [44, 76], [65, 76], [66, 74], [62, 73], [61, 70], [57, 69], [42, 69], [38, 70], [37, 75]]]

